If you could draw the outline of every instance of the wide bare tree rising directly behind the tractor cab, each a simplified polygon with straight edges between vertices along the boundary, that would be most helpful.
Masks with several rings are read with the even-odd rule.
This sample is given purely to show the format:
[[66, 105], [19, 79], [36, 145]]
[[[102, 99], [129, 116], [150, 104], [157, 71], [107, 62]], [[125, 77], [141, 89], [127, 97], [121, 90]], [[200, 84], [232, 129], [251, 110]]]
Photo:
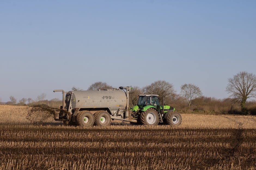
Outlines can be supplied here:
[[161, 97], [170, 96], [175, 93], [175, 90], [173, 89], [173, 85], [169, 82], [159, 80], [144, 87], [143, 92], [145, 94], [157, 94], [161, 100]]

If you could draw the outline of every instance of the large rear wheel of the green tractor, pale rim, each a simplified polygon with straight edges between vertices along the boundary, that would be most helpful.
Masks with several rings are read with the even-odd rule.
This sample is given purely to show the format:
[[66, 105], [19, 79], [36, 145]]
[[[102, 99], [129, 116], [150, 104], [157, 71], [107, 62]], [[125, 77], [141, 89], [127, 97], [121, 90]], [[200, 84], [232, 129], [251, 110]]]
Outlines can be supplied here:
[[155, 109], [148, 109], [141, 113], [140, 121], [143, 125], [156, 126], [159, 123], [159, 115]]

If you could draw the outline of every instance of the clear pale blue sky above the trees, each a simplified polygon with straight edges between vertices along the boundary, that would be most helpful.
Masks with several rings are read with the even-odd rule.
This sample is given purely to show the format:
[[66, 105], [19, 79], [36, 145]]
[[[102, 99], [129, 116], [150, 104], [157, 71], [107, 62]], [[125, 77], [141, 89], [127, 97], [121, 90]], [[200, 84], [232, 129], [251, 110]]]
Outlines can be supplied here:
[[0, 98], [157, 80], [225, 98], [256, 74], [256, 1], [0, 1]]

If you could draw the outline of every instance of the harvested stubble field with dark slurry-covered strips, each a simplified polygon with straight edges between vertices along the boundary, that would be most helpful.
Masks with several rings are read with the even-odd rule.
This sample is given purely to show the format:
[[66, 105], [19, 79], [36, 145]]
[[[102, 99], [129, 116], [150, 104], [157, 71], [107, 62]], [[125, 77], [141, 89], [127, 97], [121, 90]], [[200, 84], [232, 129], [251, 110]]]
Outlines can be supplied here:
[[0, 105], [0, 169], [256, 169], [255, 116], [182, 114], [178, 127], [83, 128], [30, 110]]

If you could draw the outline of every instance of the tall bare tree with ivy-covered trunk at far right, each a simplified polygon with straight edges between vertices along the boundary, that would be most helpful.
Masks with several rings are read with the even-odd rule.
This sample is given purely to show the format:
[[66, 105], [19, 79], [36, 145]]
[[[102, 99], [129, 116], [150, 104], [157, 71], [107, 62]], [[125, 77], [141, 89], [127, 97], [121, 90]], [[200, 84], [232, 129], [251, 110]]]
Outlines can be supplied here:
[[246, 71], [239, 72], [228, 79], [226, 91], [230, 97], [240, 100], [241, 110], [245, 112], [246, 100], [256, 96], [256, 76]]

